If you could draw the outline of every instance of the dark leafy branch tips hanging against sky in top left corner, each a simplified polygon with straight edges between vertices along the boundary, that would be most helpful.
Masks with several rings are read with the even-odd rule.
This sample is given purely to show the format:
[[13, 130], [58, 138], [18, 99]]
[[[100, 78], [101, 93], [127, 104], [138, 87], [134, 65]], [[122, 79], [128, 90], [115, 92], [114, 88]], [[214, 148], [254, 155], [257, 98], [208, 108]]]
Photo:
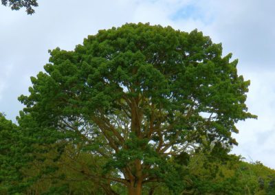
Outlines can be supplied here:
[[34, 7], [39, 5], [36, 0], [1, 0], [1, 3], [2, 5], [9, 6], [12, 10], [26, 8], [28, 14], [33, 14]]

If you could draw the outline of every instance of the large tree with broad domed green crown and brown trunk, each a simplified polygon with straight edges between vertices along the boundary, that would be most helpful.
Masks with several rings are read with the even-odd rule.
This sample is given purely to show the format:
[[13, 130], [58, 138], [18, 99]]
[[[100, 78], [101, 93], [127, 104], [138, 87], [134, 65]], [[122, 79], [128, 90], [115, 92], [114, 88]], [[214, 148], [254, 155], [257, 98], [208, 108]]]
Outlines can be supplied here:
[[197, 30], [126, 24], [50, 54], [45, 72], [31, 78], [30, 95], [19, 98], [19, 124], [39, 151], [58, 148], [54, 161], [66, 150], [72, 161], [89, 154], [89, 162], [71, 168], [109, 183], [110, 194], [112, 183], [129, 194], [153, 183], [178, 193], [186, 154], [229, 148], [236, 122], [255, 117], [237, 60]]

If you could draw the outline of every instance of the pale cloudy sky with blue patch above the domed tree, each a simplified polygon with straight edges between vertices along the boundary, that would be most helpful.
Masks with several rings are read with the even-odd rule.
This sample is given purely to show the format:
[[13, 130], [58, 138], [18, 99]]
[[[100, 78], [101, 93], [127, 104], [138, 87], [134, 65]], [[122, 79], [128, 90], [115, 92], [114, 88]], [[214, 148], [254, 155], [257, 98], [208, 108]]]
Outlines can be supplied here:
[[251, 80], [248, 108], [259, 119], [239, 122], [232, 152], [275, 168], [275, 1], [272, 0], [38, 0], [32, 16], [0, 5], [0, 111], [15, 121], [30, 76], [43, 71], [48, 49], [74, 49], [88, 34], [124, 23], [197, 28], [223, 54], [239, 59]]

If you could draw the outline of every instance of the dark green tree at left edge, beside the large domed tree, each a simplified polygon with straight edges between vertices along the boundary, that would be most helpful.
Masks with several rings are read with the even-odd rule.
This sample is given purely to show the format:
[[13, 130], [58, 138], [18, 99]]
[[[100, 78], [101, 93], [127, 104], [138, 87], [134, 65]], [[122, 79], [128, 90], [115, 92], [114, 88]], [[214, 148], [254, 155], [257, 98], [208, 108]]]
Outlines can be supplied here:
[[26, 149], [21, 137], [19, 127], [0, 113], [0, 194], [22, 191], [27, 185], [21, 172], [28, 161], [21, 154]]

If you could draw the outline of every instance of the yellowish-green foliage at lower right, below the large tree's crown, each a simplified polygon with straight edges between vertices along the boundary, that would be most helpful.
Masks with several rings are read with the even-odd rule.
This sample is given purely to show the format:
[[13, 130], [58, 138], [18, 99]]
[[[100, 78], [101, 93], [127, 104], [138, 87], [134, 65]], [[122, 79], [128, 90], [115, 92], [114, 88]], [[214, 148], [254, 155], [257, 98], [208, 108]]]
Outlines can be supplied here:
[[[224, 158], [225, 157], [225, 158]], [[192, 155], [186, 190], [192, 194], [272, 194], [275, 170], [261, 163], [246, 163], [232, 154], [223, 158], [203, 153]], [[214, 161], [210, 161], [214, 159]]]

